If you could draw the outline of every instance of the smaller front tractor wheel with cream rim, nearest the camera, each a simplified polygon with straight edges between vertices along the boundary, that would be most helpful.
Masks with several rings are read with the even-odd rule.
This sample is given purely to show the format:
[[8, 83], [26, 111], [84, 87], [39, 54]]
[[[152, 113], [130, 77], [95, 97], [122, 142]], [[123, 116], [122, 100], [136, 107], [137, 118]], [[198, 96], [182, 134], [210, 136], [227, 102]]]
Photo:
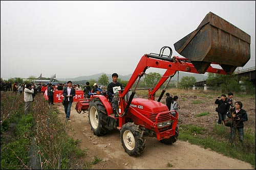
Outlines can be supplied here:
[[134, 123], [126, 123], [120, 131], [121, 141], [124, 151], [130, 156], [139, 156], [145, 149], [145, 139], [143, 131], [139, 125]]

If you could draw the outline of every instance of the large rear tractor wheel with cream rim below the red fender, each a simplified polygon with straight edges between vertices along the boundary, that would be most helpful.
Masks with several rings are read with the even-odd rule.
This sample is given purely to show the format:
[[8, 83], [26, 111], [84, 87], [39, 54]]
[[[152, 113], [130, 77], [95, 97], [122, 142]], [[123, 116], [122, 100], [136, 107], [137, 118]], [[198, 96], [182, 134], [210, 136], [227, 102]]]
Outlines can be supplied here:
[[108, 114], [106, 109], [99, 99], [93, 99], [89, 106], [89, 123], [93, 133], [97, 136], [102, 136], [109, 132], [106, 128], [108, 122]]

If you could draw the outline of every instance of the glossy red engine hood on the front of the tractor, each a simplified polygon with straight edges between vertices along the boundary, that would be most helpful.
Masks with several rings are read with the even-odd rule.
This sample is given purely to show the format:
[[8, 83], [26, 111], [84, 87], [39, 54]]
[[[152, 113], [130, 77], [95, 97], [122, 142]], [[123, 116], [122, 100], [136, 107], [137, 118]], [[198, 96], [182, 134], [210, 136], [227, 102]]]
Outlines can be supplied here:
[[134, 98], [130, 107], [148, 112], [168, 111], [168, 107], [160, 102], [140, 98]]

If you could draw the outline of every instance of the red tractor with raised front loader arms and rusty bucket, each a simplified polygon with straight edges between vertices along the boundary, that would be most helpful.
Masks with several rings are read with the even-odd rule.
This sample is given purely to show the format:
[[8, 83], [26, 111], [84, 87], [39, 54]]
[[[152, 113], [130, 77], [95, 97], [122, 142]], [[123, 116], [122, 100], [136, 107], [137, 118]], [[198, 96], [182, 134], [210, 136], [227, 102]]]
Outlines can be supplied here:
[[[111, 130], [119, 130], [122, 146], [130, 156], [138, 156], [144, 151], [145, 136], [156, 137], [165, 144], [176, 142], [178, 113], [160, 103], [170, 79], [177, 71], [230, 75], [237, 66], [244, 66], [250, 59], [249, 44], [248, 34], [209, 12], [197, 30], [174, 44], [176, 51], [186, 58], [172, 57], [172, 48], [164, 46], [159, 54], [142, 56], [129, 82], [115, 93], [112, 102], [104, 95], [92, 96], [88, 117], [93, 133], [102, 136]], [[168, 56], [163, 55], [165, 49], [169, 51]], [[214, 68], [213, 64], [223, 69]], [[148, 99], [137, 98], [140, 79], [150, 67], [166, 71], [156, 86], [148, 89]], [[168, 78], [155, 101], [156, 91]]]

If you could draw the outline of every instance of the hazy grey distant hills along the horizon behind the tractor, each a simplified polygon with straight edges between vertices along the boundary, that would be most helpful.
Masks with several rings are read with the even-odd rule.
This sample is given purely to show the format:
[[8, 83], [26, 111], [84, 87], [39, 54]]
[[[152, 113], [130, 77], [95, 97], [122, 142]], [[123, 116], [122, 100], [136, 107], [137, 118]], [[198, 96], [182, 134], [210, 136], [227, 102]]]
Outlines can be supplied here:
[[[80, 76], [80, 77], [77, 77], [77, 78], [67, 78], [67, 79], [58, 79], [59, 81], [69, 81], [69, 80], [71, 80], [72, 82], [76, 82], [76, 81], [89, 81], [89, 80], [91, 80], [91, 79], [94, 79], [94, 80], [98, 80], [99, 79], [99, 77], [101, 76], [101, 75], [103, 75], [103, 74], [105, 74], [104, 72], [101, 72], [101, 73], [99, 73], [99, 74], [96, 74], [96, 75], [91, 75], [91, 76]], [[111, 82], [112, 81], [112, 77], [111, 77], [111, 75], [112, 74], [105, 74], [106, 76], [108, 76], [109, 77], [109, 82]], [[131, 76], [132, 76], [132, 74], [130, 74], [130, 75], [126, 75], [126, 76], [123, 76], [123, 75], [118, 75], [119, 77], [119, 79], [121, 79], [121, 80], [126, 80], [126, 81], [129, 81], [130, 80], [130, 78], [131, 78]], [[188, 77], [190, 77], [190, 76], [193, 76], [193, 77], [195, 77], [196, 78], [196, 80], [197, 81], [203, 81], [203, 80], [206, 80], [207, 79], [207, 76], [205, 76], [205, 75], [201, 75], [201, 74], [190, 74], [190, 73], [186, 73], [186, 72], [179, 72], [179, 80], [181, 80], [182, 79], [182, 77], [184, 77], [184, 76], [188, 76]], [[177, 79], [178, 79], [178, 72], [176, 73], [176, 75], [172, 78], [172, 80], [174, 81], [177, 81]]]

